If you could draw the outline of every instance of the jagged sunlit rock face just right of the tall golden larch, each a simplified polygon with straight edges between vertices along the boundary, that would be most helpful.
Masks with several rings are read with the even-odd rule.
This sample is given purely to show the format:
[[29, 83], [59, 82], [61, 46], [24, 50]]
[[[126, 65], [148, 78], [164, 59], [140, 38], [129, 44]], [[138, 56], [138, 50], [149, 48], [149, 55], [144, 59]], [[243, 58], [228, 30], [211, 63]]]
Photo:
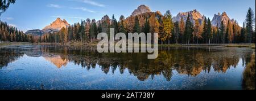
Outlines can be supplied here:
[[181, 17], [183, 17], [183, 20], [184, 21], [187, 21], [187, 18], [188, 18], [188, 14], [190, 16], [190, 20], [192, 21], [192, 23], [195, 24], [195, 21], [197, 19], [199, 19], [199, 23], [201, 24], [203, 19], [204, 19], [204, 16], [202, 16], [200, 14], [199, 11], [197, 10], [192, 10], [192, 11], [189, 11], [189, 12], [179, 12], [179, 14], [177, 14], [177, 16], [173, 17], [173, 21], [176, 22], [176, 21], [180, 21], [181, 20]]

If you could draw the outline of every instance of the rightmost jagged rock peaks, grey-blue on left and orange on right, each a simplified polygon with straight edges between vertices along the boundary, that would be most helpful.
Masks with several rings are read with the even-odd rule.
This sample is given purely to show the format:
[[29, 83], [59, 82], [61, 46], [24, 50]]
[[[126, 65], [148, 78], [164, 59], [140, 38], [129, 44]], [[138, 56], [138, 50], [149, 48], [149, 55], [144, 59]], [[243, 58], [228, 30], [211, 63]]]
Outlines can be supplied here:
[[212, 26], [220, 28], [221, 21], [223, 21], [224, 25], [228, 25], [228, 21], [231, 21], [226, 12], [223, 12], [222, 14], [218, 13], [218, 15], [214, 14], [212, 19]]

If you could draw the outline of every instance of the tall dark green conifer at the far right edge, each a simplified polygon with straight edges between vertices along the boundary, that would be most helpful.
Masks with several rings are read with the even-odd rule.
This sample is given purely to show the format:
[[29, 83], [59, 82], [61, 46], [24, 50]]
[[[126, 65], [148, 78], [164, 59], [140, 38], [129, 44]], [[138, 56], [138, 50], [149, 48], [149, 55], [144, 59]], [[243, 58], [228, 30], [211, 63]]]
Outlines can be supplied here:
[[254, 23], [255, 23], [254, 12], [251, 9], [251, 7], [247, 11], [245, 21], [246, 21], [246, 42], [251, 43], [252, 35], [254, 32], [253, 28], [254, 28]]

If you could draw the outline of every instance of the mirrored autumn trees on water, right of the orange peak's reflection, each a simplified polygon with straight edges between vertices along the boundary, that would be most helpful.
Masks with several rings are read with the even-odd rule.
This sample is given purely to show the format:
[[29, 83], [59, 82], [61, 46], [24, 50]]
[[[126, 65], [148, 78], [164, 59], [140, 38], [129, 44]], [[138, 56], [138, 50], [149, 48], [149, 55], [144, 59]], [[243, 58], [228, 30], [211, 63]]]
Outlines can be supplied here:
[[[122, 74], [125, 69], [130, 74], [134, 74], [141, 81], [155, 75], [162, 75], [167, 81], [171, 80], [173, 71], [188, 76], [197, 76], [201, 72], [225, 73], [229, 68], [236, 68], [240, 59], [246, 60], [245, 55], [250, 54], [250, 50], [245, 49], [170, 49], [159, 51], [157, 59], [147, 59], [147, 54], [130, 54], [130, 53], [104, 53], [99, 54], [96, 50], [88, 49], [69, 49], [64, 47], [63, 50], [52, 47], [42, 47], [43, 52], [54, 52], [63, 59], [68, 59], [82, 68], [96, 68], [98, 64], [104, 73], [114, 73], [117, 68]], [[246, 54], [245, 54], [246, 53]]]

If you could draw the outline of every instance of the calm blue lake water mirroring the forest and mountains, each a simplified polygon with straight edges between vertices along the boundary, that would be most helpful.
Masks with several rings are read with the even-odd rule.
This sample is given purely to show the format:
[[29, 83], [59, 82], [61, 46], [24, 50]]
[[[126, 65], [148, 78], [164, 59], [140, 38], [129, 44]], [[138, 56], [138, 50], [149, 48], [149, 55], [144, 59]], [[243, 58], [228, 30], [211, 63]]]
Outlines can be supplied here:
[[99, 54], [90, 47], [0, 49], [0, 89], [243, 89], [253, 50], [245, 47], [159, 47], [146, 53]]

